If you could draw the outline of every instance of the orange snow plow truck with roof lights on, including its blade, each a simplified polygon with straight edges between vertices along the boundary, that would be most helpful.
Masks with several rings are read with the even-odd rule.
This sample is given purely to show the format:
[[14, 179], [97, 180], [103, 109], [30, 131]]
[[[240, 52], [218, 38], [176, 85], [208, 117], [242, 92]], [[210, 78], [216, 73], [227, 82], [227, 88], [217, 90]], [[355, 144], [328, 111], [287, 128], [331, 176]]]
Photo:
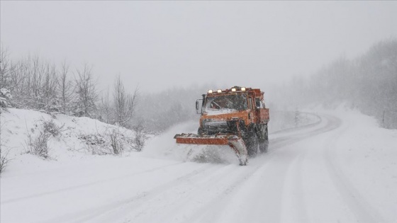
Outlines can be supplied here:
[[209, 90], [196, 101], [196, 111], [201, 114], [197, 134], [177, 134], [177, 144], [228, 145], [241, 166], [267, 152], [269, 108], [259, 88]]

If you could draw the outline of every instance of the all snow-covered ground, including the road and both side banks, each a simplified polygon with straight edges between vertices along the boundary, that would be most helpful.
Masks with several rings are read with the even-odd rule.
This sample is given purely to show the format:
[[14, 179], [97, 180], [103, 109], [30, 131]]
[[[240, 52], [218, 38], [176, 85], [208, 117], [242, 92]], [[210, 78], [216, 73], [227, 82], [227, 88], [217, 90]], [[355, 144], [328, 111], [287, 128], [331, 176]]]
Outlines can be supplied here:
[[1, 173], [0, 222], [397, 222], [397, 131], [354, 111], [318, 115], [273, 131], [269, 153], [238, 166], [186, 161], [173, 136], [195, 132], [196, 122], [142, 152], [99, 156], [78, 135], [109, 126], [62, 115], [54, 122], [70, 128], [40, 159], [24, 145], [50, 117], [11, 109], [1, 114], [11, 162]]

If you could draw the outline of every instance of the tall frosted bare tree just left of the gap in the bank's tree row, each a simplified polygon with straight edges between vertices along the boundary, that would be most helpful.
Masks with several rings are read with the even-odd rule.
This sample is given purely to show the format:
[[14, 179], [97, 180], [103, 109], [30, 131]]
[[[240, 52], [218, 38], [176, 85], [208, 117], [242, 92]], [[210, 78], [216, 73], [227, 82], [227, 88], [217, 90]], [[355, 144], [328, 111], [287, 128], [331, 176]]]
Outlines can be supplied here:
[[86, 116], [94, 118], [96, 110], [96, 81], [91, 73], [91, 67], [84, 64], [82, 69], [77, 69], [77, 77], [75, 77], [77, 105], [74, 114], [78, 116]]

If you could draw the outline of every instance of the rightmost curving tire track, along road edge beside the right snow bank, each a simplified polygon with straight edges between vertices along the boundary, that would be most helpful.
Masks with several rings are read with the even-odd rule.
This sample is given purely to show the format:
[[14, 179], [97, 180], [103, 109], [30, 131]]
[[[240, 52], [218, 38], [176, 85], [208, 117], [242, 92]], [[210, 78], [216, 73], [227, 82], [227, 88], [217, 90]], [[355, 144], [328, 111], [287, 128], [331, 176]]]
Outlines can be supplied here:
[[[339, 120], [340, 122], [340, 120]], [[384, 222], [379, 212], [370, 205], [362, 195], [359, 194], [358, 190], [354, 188], [354, 185], [350, 182], [349, 178], [338, 168], [335, 159], [335, 149], [337, 140], [347, 131], [347, 127], [344, 127], [339, 132], [336, 132], [327, 141], [327, 146], [323, 152], [325, 164], [330, 177], [335, 184], [335, 188], [340, 193], [343, 200], [347, 204], [347, 207], [354, 213], [358, 222], [372, 223], [372, 222]]]

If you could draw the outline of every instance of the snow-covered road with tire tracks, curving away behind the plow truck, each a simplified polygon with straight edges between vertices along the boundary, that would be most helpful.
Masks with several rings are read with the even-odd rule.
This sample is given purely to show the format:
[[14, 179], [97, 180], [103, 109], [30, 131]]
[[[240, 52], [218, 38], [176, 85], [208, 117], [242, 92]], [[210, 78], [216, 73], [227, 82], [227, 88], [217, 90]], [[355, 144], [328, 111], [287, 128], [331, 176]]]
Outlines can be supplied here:
[[[313, 125], [270, 135], [269, 152], [248, 166], [172, 162], [109, 172], [4, 198], [1, 209], [30, 207], [30, 222], [380, 222], [333, 160], [333, 142], [345, 128], [320, 115]], [[36, 206], [50, 210], [55, 200], [65, 210], [37, 214]]]

